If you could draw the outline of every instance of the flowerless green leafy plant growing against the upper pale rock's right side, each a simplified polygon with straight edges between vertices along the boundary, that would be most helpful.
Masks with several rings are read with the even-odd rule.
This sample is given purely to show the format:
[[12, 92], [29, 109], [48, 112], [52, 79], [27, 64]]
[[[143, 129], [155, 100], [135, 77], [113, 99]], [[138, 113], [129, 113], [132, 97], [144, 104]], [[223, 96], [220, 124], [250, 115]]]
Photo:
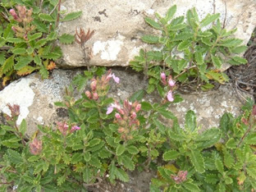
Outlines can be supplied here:
[[186, 19], [185, 16], [174, 17], [176, 9], [176, 6], [171, 7], [163, 17], [156, 13], [157, 21], [149, 17], [144, 19], [154, 30], [160, 30], [161, 35], [145, 34], [141, 39], [161, 50], [141, 49], [130, 61], [130, 66], [149, 77], [148, 93], [157, 88], [160, 71], [171, 70], [173, 80], [205, 91], [214, 87], [212, 81], [224, 84], [228, 80], [219, 71], [223, 63], [247, 63], [245, 58], [235, 56], [245, 52], [246, 46], [241, 45], [241, 39], [232, 37], [235, 30], [222, 29], [219, 13], [208, 14], [200, 21], [195, 8], [187, 11]]

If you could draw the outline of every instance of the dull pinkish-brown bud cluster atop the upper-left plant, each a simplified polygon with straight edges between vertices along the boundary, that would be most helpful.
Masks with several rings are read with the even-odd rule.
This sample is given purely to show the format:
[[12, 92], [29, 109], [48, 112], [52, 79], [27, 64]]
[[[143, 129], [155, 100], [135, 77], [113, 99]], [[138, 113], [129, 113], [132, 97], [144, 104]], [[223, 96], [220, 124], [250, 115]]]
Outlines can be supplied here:
[[30, 8], [30, 10], [27, 10], [25, 6], [16, 6], [16, 10], [18, 11], [18, 14], [15, 9], [10, 9], [9, 13], [20, 25], [12, 26], [11, 29], [16, 32], [17, 37], [28, 40], [27, 35], [35, 29], [34, 25], [30, 25], [33, 21], [33, 9]]

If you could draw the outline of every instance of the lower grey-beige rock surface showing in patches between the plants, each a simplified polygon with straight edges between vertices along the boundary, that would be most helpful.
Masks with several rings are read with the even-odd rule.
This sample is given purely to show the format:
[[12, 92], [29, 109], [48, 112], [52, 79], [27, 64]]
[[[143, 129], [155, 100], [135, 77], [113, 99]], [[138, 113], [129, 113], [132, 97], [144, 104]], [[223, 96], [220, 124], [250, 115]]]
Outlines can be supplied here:
[[[141, 74], [119, 68], [112, 70], [120, 77], [120, 84], [112, 84], [113, 98], [126, 99], [135, 91], [144, 89]], [[28, 123], [28, 135], [33, 135], [37, 125], [52, 125], [67, 116], [66, 110], [55, 107], [54, 102], [62, 101], [65, 87], [71, 83], [75, 74], [80, 71], [54, 70], [50, 79], [40, 80], [39, 75], [29, 75], [21, 80], [16, 80], [0, 92], [0, 111], [9, 113], [7, 103], [18, 104], [21, 107], [21, 116], [18, 124], [25, 118]], [[249, 95], [245, 95], [248, 97]], [[184, 121], [185, 112], [194, 110], [197, 114], [199, 126], [207, 129], [218, 126], [219, 118], [224, 112], [231, 112], [235, 116], [240, 114], [242, 104], [235, 97], [233, 88], [229, 85], [207, 93], [181, 94], [184, 101], [173, 104], [170, 111]], [[157, 94], [149, 95], [150, 102], [158, 102]]]

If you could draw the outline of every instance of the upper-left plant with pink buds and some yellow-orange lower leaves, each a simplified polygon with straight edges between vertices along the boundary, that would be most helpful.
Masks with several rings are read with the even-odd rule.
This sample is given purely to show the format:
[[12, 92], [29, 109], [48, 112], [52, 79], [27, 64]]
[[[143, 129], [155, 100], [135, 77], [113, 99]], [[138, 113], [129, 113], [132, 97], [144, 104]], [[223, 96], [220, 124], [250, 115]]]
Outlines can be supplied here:
[[[39, 3], [40, 7], [39, 8]], [[58, 37], [57, 27], [60, 21], [71, 21], [81, 15], [81, 11], [62, 16], [57, 11], [60, 1], [2, 1], [0, 11], [0, 78], [2, 85], [16, 75], [28, 75], [39, 71], [43, 79], [48, 78], [48, 71], [53, 70], [62, 51], [56, 46], [72, 43], [74, 35], [62, 34]], [[14, 11], [14, 13], [11, 12]], [[16, 16], [15, 16], [16, 14]]]

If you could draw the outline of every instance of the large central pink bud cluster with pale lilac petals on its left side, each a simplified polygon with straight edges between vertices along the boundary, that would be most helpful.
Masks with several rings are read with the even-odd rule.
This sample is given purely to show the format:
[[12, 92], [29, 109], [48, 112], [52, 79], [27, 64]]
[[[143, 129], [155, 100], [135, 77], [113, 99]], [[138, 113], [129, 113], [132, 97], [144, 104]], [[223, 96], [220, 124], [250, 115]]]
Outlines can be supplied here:
[[131, 131], [137, 130], [139, 126], [137, 112], [139, 112], [141, 104], [137, 101], [135, 103], [130, 103], [126, 99], [123, 107], [121, 107], [118, 102], [115, 102], [107, 107], [107, 115], [112, 113], [114, 108], [117, 109], [114, 122], [119, 126], [118, 132], [121, 134], [121, 138], [125, 140], [132, 139], [133, 136], [131, 135]]

